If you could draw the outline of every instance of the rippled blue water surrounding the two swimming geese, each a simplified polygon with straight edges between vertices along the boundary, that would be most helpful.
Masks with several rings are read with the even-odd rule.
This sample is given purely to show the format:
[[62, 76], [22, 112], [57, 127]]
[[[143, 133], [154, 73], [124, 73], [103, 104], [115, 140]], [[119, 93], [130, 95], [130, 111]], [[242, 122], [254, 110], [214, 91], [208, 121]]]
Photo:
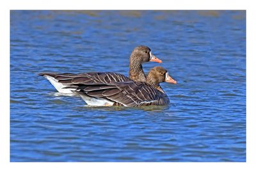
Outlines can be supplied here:
[[[11, 11], [10, 160], [246, 161], [244, 11]], [[128, 74], [147, 45], [164, 107], [86, 107], [39, 72]]]

